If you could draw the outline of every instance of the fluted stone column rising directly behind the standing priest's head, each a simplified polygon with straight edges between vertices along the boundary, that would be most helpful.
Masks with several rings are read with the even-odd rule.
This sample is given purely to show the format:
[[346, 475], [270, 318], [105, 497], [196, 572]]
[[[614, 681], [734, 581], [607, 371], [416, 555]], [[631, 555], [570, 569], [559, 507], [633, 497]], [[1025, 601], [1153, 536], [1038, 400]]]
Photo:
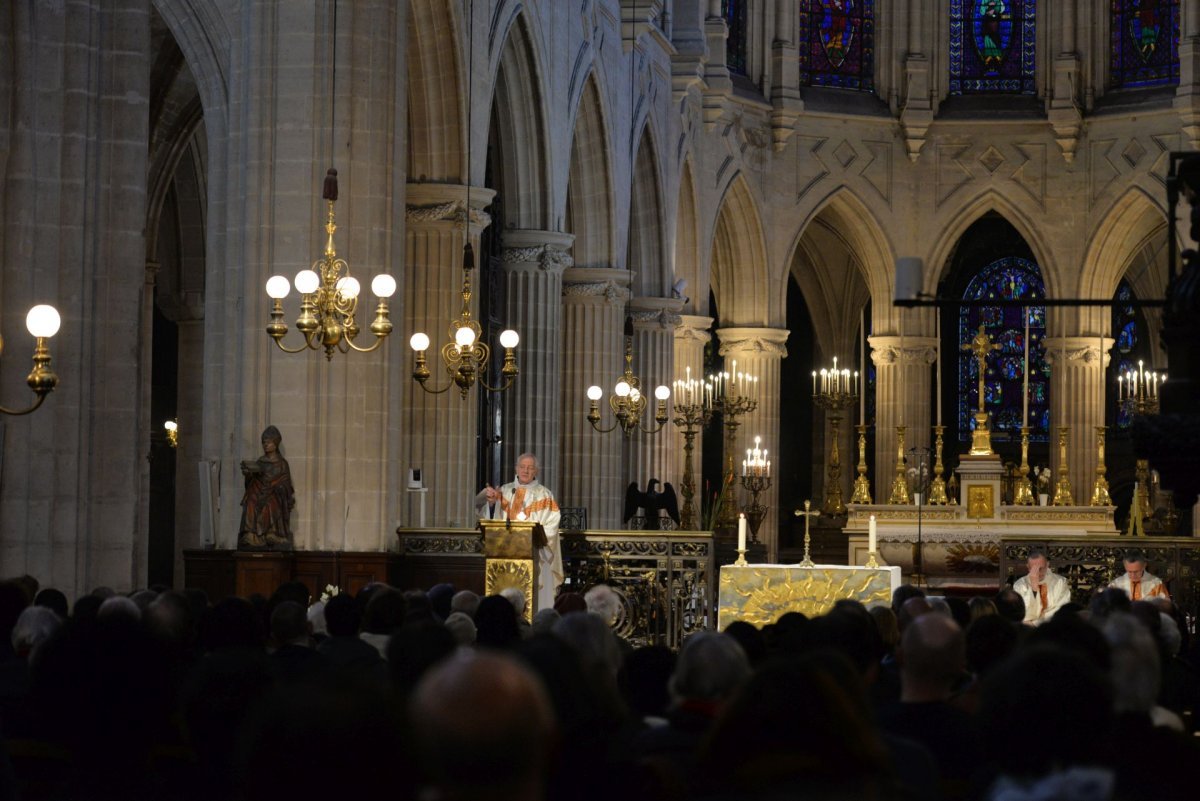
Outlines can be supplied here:
[[538, 454], [539, 480], [559, 481], [563, 389], [563, 270], [571, 266], [575, 236], [558, 231], [504, 231], [505, 302], [509, 325], [521, 335], [521, 377], [504, 398], [504, 464]]

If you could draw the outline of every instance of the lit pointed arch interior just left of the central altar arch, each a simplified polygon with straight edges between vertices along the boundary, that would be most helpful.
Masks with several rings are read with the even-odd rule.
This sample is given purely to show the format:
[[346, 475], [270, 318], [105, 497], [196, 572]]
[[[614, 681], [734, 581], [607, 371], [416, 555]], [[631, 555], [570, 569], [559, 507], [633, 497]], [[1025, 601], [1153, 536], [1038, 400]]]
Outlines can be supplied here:
[[[874, 299], [874, 330], [886, 331], [895, 309], [890, 303], [895, 251], [878, 219], [854, 192], [834, 189], [804, 221], [791, 247], [790, 270], [779, 295], [787, 296], [794, 275], [827, 353], [853, 345], [858, 311]], [[803, 265], [811, 270], [803, 270]], [[842, 330], [833, 321], [842, 320]], [[824, 337], [832, 337], [826, 342]]]

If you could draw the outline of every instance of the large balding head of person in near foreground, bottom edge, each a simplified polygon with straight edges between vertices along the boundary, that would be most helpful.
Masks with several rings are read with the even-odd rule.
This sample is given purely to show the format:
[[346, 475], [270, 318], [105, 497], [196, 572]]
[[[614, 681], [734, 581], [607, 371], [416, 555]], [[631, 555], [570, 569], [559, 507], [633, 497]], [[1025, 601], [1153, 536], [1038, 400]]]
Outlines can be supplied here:
[[554, 713], [539, 679], [517, 662], [460, 652], [418, 685], [412, 721], [440, 797], [540, 797]]

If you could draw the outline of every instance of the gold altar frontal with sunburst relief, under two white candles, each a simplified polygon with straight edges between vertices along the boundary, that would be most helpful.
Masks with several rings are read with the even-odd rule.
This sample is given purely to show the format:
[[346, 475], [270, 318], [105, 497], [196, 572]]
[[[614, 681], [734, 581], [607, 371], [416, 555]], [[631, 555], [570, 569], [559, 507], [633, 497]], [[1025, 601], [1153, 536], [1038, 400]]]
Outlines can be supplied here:
[[898, 586], [899, 567], [722, 565], [718, 628], [725, 631], [734, 620], [762, 627], [788, 612], [815, 618], [842, 598], [865, 606], [890, 604]]

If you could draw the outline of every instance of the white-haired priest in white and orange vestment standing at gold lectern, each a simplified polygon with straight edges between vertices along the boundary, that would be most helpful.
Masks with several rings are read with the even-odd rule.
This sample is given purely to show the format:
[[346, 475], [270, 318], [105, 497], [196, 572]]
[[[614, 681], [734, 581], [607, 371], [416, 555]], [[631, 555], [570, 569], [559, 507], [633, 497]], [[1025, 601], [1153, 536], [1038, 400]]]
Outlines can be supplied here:
[[516, 481], [499, 488], [488, 484], [475, 495], [480, 519], [534, 520], [546, 531], [546, 547], [538, 552], [538, 609], [553, 609], [554, 596], [563, 584], [563, 553], [558, 544], [558, 504], [554, 495], [538, 481], [538, 457], [522, 453], [517, 458]]

